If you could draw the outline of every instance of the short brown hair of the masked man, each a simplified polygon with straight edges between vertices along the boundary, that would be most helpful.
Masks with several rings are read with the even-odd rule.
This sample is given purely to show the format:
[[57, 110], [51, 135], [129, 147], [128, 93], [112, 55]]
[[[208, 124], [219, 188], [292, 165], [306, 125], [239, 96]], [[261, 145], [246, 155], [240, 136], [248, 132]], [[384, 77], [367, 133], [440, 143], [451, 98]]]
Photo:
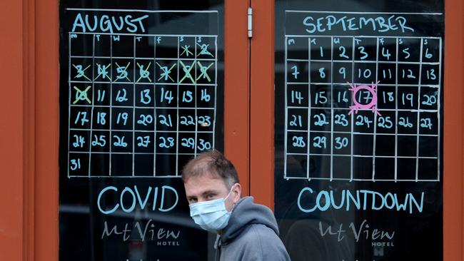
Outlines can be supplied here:
[[185, 183], [188, 178], [205, 174], [217, 175], [229, 190], [240, 183], [236, 168], [218, 150], [209, 150], [190, 160], [182, 169], [182, 180]]

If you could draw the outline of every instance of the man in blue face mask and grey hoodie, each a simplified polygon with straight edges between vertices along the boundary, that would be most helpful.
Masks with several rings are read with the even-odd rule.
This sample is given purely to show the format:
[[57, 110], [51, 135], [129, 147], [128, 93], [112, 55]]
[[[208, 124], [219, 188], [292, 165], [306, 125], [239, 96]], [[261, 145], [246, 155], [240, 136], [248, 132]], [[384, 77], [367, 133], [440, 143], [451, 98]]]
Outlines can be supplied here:
[[272, 211], [252, 197], [241, 198], [237, 171], [220, 152], [188, 162], [182, 180], [193, 221], [218, 235], [216, 260], [290, 260]]

